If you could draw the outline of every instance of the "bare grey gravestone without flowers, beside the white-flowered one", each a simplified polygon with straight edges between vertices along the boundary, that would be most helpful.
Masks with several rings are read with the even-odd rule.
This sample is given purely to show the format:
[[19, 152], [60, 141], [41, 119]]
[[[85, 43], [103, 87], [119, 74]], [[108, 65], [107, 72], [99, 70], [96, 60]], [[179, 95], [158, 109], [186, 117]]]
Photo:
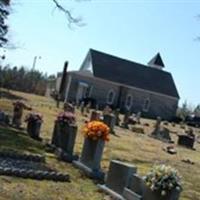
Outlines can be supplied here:
[[114, 199], [123, 199], [124, 188], [129, 185], [130, 178], [136, 171], [137, 168], [134, 165], [112, 160], [105, 185], [99, 185], [99, 188]]

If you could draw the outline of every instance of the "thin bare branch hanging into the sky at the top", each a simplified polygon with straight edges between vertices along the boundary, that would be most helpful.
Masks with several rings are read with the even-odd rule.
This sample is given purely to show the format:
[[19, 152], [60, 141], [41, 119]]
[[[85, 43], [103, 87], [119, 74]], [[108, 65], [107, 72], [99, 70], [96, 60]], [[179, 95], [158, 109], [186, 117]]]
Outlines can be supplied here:
[[70, 10], [64, 8], [60, 3], [58, 3], [57, 0], [52, 0], [56, 6], [56, 8], [58, 8], [61, 12], [63, 12], [68, 20], [68, 25], [71, 28], [72, 24], [75, 24], [77, 26], [83, 26], [84, 24], [82, 23], [82, 18], [80, 17], [74, 17], [72, 16], [72, 13]]

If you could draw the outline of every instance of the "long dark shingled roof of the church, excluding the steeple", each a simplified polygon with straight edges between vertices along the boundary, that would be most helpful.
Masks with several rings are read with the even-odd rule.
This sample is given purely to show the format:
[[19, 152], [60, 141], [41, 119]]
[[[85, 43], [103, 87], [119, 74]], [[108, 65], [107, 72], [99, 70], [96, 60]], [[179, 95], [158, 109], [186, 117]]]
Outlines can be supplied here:
[[94, 76], [179, 98], [171, 73], [90, 49]]

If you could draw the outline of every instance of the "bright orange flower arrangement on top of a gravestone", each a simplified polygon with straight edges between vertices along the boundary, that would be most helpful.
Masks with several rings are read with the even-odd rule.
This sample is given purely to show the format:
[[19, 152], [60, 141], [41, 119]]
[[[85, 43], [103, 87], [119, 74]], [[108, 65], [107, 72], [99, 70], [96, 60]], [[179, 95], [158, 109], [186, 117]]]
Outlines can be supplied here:
[[91, 121], [85, 124], [83, 134], [92, 140], [109, 141], [109, 127], [101, 121]]

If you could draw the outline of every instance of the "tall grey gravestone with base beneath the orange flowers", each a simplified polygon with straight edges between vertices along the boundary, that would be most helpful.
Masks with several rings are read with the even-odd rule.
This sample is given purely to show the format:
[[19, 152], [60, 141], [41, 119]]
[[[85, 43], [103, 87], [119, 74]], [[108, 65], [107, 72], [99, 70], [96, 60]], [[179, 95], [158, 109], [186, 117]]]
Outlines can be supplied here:
[[81, 157], [78, 161], [73, 161], [73, 164], [90, 178], [103, 180], [104, 173], [101, 171], [101, 159], [104, 145], [105, 142], [101, 139], [85, 138]]

